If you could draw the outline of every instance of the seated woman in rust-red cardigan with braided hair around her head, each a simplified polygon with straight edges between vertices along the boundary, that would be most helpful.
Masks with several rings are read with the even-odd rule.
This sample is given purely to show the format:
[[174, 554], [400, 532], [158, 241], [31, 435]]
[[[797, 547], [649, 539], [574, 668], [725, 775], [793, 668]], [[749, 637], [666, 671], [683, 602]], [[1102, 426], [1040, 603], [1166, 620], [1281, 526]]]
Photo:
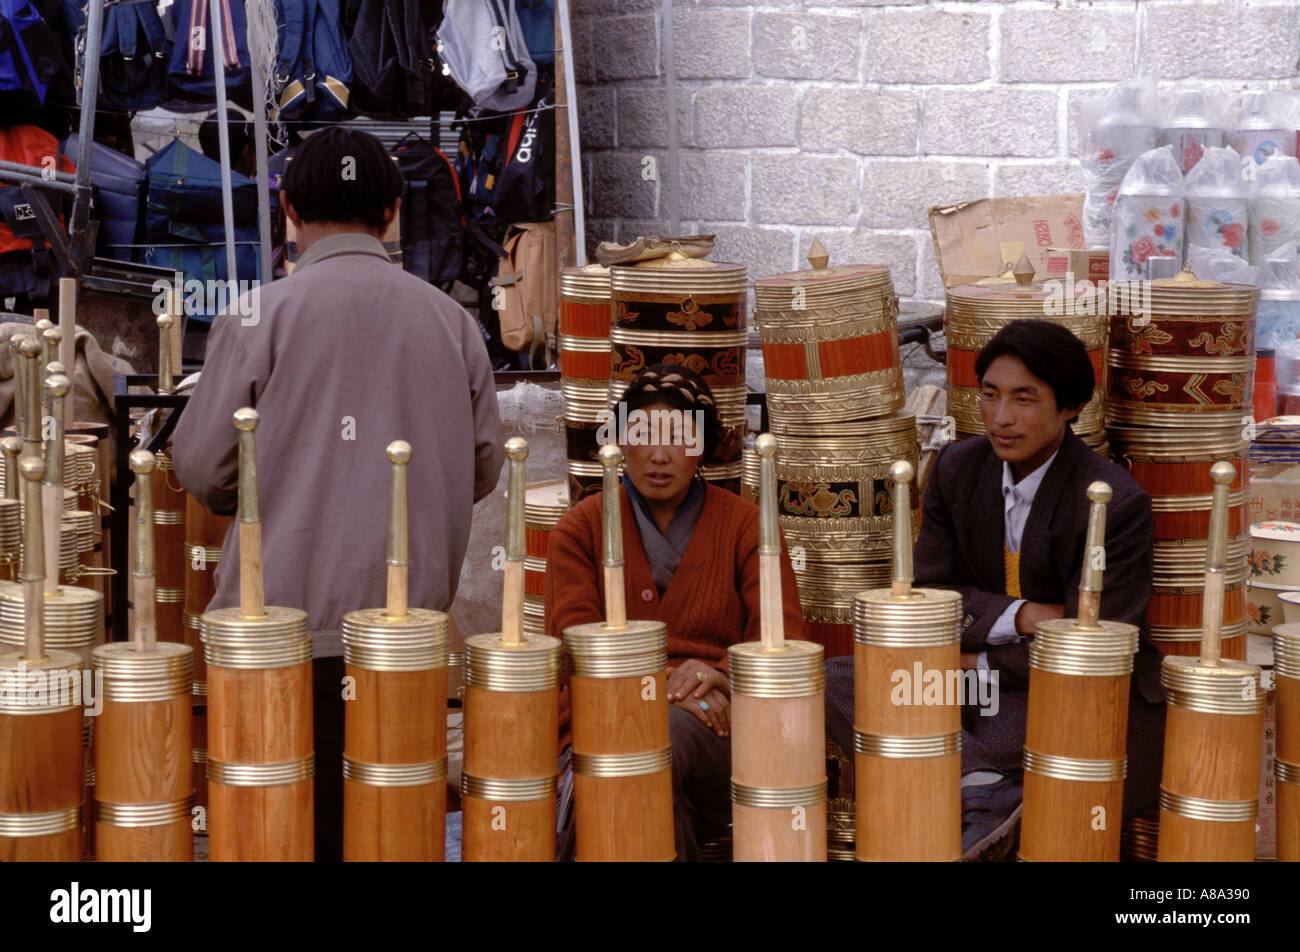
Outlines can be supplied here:
[[[698, 860], [701, 839], [731, 822], [731, 684], [727, 648], [757, 640], [758, 507], [699, 475], [723, 438], [712, 393], [685, 367], [655, 364], [623, 397], [619, 442], [627, 475], [623, 512], [624, 587], [629, 619], [663, 622], [668, 636], [668, 731], [679, 860]], [[615, 407], [618, 411], [618, 407]], [[680, 424], [660, 436], [637, 425], [655, 411]], [[619, 414], [621, 416], [621, 414]], [[649, 442], [644, 437], [658, 440]], [[601, 566], [603, 496], [588, 497], [551, 531], [546, 559], [547, 633], [604, 619]], [[781, 557], [785, 633], [803, 637], [798, 589]], [[567, 732], [567, 696], [560, 721]], [[566, 741], [567, 743], [567, 741]], [[563, 844], [564, 838], [562, 838]], [[563, 856], [562, 845], [562, 856]]]

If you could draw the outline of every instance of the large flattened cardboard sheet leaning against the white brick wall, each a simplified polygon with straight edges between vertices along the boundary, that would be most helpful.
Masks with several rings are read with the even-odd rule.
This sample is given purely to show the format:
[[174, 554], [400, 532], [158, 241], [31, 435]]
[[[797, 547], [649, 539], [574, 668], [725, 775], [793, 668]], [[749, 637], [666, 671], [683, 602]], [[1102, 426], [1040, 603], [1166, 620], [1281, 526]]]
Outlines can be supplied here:
[[1026, 255], [1045, 277], [1044, 248], [1083, 250], [1083, 192], [979, 199], [930, 209], [944, 287], [1001, 272]]

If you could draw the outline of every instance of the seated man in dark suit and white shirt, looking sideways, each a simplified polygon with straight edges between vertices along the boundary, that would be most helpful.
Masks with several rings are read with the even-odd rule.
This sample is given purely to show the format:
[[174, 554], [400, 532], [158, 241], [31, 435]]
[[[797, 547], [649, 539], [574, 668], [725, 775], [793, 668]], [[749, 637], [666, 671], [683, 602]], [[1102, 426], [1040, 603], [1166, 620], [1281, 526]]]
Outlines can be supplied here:
[[[1028, 707], [1028, 641], [1039, 622], [1076, 618], [1088, 484], [1106, 510], [1101, 618], [1141, 629], [1128, 705], [1124, 817], [1154, 809], [1164, 753], [1160, 652], [1147, 628], [1150, 497], [1070, 429], [1092, 395], [1083, 343], [1058, 324], [1019, 320], [975, 362], [987, 436], [946, 447], [926, 488], [915, 584], [962, 594], [962, 667], [997, 678], [997, 702], [962, 707], [962, 853], [978, 856], [1018, 822]], [[982, 688], [984, 685], [982, 684]], [[987, 696], [984, 691], [982, 696]], [[853, 658], [827, 662], [827, 730], [853, 750]], [[1078, 724], [1087, 731], [1088, 724]]]

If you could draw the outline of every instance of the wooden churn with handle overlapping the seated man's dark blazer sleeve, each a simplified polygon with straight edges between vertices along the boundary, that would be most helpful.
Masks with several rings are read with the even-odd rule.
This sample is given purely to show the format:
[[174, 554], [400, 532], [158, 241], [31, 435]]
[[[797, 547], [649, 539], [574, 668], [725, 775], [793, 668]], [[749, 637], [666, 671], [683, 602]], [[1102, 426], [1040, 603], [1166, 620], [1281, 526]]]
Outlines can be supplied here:
[[1098, 620], [1110, 486], [1088, 499], [1079, 616], [1040, 622], [1030, 642], [1022, 860], [1119, 861], [1138, 628]]

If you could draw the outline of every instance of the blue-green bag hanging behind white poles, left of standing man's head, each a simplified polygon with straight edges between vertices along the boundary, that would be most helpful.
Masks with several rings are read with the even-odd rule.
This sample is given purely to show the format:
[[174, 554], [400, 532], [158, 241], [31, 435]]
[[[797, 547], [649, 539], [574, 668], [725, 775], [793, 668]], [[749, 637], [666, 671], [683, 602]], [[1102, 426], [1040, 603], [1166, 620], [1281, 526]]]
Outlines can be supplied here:
[[[226, 228], [221, 203], [221, 165], [179, 139], [144, 163], [144, 264], [179, 271], [199, 281], [226, 281]], [[235, 268], [240, 280], [260, 277], [257, 255], [257, 185], [230, 173]], [[211, 320], [211, 315], [196, 315]]]

